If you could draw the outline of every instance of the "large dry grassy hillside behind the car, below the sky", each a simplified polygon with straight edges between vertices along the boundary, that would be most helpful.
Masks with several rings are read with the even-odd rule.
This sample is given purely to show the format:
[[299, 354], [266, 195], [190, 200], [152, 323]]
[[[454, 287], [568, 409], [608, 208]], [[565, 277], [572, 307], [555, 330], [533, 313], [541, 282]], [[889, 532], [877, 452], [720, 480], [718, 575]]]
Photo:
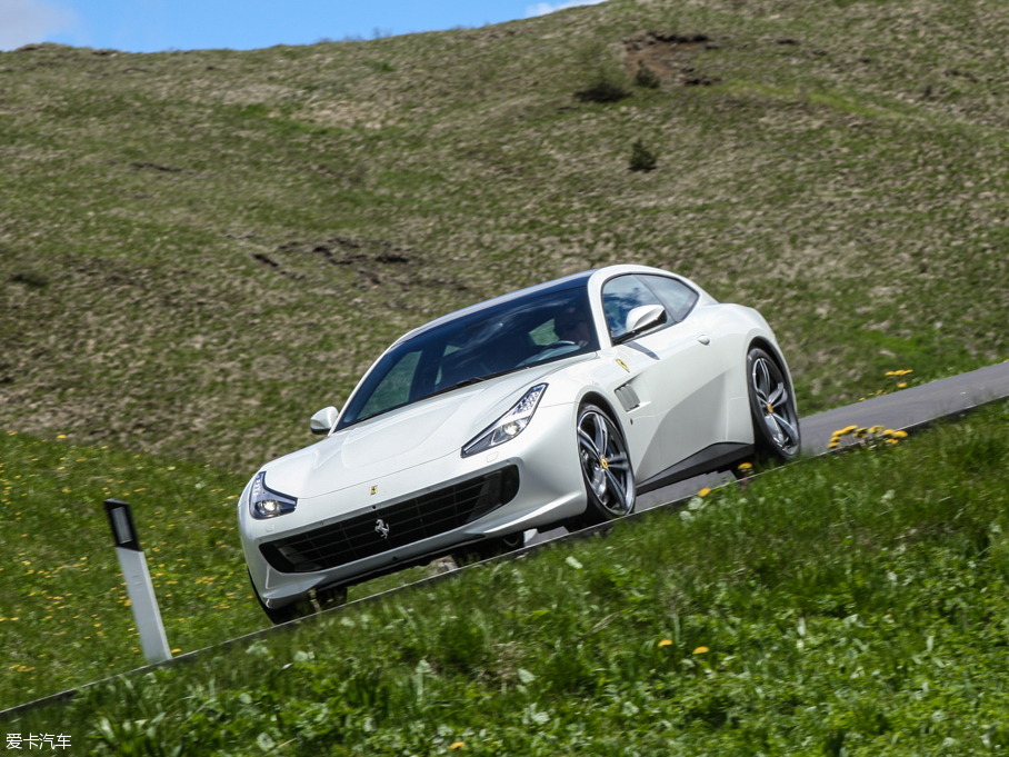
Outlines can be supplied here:
[[1002, 359], [1002, 11], [610, 0], [0, 53], [0, 425], [251, 470], [407, 329], [622, 261], [759, 307], [806, 412]]

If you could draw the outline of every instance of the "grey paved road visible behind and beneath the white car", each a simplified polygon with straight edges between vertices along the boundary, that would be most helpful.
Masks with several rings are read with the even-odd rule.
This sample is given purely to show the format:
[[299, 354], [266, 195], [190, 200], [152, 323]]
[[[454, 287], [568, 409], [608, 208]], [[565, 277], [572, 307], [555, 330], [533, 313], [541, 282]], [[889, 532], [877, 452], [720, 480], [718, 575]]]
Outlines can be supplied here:
[[[1009, 361], [802, 418], [799, 421], [802, 451], [811, 455], [827, 451], [830, 435], [852, 424], [912, 429], [1002, 397], [1009, 397]], [[723, 478], [725, 475], [709, 474], [650, 491], [638, 498], [637, 509], [650, 510], [689, 497], [705, 487], [718, 486]], [[527, 545], [549, 541], [567, 531], [558, 528], [547, 534], [528, 534]]]

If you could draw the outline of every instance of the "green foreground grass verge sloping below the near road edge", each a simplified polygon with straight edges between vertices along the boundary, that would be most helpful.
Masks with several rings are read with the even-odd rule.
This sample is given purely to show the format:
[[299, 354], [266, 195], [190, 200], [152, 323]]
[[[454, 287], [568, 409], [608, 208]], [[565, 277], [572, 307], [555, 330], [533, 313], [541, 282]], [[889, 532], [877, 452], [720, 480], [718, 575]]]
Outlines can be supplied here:
[[[99, 755], [437, 755], [459, 740], [488, 755], [999, 754], [1007, 462], [1002, 404], [117, 679], [4, 727], [58, 729]], [[206, 476], [182, 470], [176, 487]], [[214, 550], [201, 554], [189, 582], [214, 575]], [[114, 604], [111, 574], [33, 567], [53, 574], [50, 594], [71, 576], [106, 579]], [[206, 601], [229, 605], [213, 614], [221, 639], [253, 609], [227, 592]], [[23, 644], [11, 627], [4, 649]], [[80, 661], [101, 661], [124, 631], [48, 648], [90, 674]]]

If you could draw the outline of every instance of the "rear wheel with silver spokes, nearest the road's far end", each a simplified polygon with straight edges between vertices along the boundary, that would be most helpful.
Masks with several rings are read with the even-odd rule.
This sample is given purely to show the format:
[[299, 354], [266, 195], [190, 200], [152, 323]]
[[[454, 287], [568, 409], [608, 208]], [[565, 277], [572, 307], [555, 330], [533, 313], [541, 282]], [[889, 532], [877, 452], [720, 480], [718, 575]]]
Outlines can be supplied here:
[[795, 458], [801, 442], [795, 392], [778, 361], [759, 347], [747, 355], [747, 395], [758, 457]]

